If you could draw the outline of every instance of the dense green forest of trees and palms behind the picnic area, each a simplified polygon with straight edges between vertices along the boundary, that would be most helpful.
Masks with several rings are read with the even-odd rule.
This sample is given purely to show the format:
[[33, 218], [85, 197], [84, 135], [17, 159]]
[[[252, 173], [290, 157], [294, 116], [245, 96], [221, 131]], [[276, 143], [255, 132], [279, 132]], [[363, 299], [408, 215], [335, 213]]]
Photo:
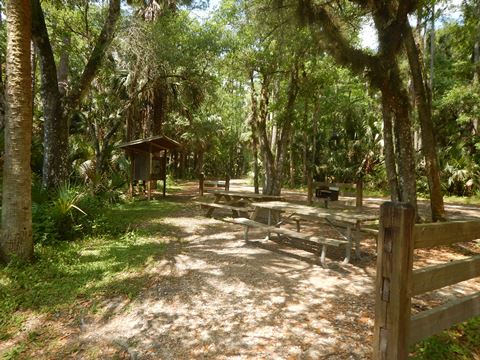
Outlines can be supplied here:
[[425, 196], [442, 220], [445, 194], [480, 191], [479, 9], [473, 0], [32, 1], [35, 241], [84, 231], [66, 215], [79, 191], [96, 199], [85, 208], [123, 196], [130, 159], [118, 145], [155, 135], [182, 144], [169, 155], [171, 178], [250, 177], [277, 195], [309, 178], [361, 181], [414, 206]]

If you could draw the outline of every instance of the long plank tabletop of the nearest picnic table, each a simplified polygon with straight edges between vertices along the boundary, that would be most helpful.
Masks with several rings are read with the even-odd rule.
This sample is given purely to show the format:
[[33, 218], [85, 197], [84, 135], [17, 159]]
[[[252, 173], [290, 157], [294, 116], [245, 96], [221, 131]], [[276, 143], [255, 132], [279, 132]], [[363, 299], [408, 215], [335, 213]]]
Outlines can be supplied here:
[[258, 208], [291, 212], [310, 218], [331, 219], [349, 223], [378, 220], [378, 215], [376, 214], [366, 214], [357, 210], [316, 208], [307, 205], [289, 203], [287, 201], [254, 202], [251, 205]]

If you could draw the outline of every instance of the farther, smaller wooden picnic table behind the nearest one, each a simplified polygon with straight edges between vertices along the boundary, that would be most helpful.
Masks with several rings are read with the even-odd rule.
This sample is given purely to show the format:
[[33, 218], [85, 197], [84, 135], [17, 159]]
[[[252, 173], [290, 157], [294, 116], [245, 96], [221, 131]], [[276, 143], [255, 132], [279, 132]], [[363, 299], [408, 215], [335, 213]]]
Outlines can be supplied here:
[[197, 202], [204, 208], [207, 208], [205, 216], [212, 217], [215, 209], [232, 210], [234, 217], [247, 216], [253, 210], [253, 202], [263, 202], [272, 200], [282, 200], [281, 196], [256, 194], [248, 191], [227, 191], [214, 190], [210, 194], [215, 196], [213, 202]]

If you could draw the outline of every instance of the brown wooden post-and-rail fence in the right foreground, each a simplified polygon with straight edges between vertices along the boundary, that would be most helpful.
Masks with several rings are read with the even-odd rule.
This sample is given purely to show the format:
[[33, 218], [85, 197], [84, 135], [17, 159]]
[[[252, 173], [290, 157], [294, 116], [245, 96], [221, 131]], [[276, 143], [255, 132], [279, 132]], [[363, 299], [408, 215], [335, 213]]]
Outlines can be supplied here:
[[413, 270], [413, 250], [478, 238], [480, 221], [415, 225], [411, 206], [381, 206], [374, 359], [406, 359], [410, 345], [480, 315], [480, 292], [411, 315], [412, 296], [480, 276], [480, 255]]

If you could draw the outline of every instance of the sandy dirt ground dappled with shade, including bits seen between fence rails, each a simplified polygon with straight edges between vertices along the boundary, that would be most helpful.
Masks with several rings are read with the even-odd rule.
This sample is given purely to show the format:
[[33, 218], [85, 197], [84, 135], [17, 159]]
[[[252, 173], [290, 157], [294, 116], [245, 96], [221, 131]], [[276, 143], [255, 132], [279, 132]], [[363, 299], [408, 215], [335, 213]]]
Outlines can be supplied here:
[[[245, 185], [234, 181], [231, 190], [236, 189]], [[293, 192], [284, 195], [289, 200], [304, 198]], [[173, 197], [191, 201], [194, 188]], [[378, 211], [380, 203], [366, 199], [368, 211]], [[473, 206], [447, 210], [454, 218], [480, 217], [480, 209]], [[246, 243], [241, 227], [203, 213], [192, 203], [161, 220], [181, 231], [169, 242], [167, 256], [149, 269], [155, 280], [133, 301], [109, 299], [102, 316], [81, 319], [75, 331], [67, 332], [62, 341], [65, 348], [78, 344], [75, 358], [371, 357], [373, 236], [362, 238], [362, 259], [347, 265], [342, 264], [343, 250], [329, 249], [325, 269], [314, 254], [264, 240], [260, 231], [252, 231], [254, 241]], [[462, 258], [479, 249], [418, 252], [415, 266]], [[416, 298], [414, 311], [478, 290], [480, 280], [444, 288]]]

